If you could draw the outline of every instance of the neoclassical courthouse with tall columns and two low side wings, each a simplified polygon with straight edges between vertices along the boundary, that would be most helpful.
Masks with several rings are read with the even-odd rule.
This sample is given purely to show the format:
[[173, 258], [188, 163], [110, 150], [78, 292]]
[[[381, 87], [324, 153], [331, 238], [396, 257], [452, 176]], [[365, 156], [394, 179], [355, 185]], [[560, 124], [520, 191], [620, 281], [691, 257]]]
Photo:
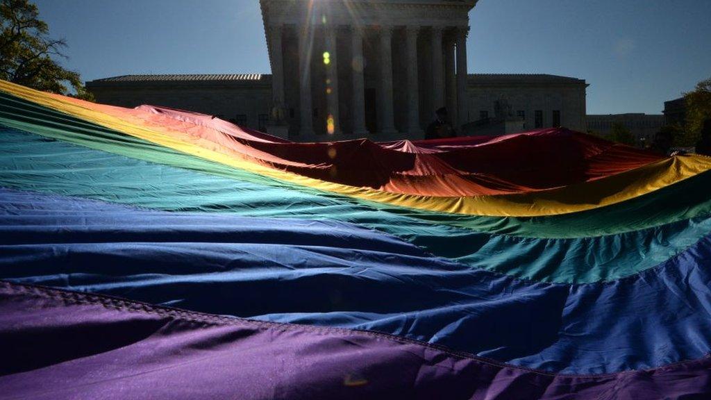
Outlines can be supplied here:
[[465, 132], [584, 130], [584, 80], [468, 73], [477, 1], [260, 0], [271, 75], [123, 75], [87, 88], [99, 102], [203, 112], [299, 141], [421, 139], [443, 106]]

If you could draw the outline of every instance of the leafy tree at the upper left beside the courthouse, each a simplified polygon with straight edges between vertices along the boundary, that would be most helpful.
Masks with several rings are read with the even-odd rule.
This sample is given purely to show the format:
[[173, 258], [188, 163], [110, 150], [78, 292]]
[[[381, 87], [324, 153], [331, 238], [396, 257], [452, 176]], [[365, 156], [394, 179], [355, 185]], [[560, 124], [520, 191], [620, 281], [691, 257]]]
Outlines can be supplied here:
[[92, 100], [78, 73], [55, 60], [67, 58], [63, 39], [48, 36], [49, 27], [29, 0], [0, 0], [0, 79], [46, 92]]

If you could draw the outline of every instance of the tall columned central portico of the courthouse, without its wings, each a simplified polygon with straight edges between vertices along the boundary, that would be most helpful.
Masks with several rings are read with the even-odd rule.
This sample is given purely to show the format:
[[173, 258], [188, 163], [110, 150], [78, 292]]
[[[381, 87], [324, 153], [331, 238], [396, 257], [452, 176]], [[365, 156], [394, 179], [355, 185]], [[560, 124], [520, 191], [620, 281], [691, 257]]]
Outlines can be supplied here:
[[[476, 0], [261, 0], [272, 102], [300, 140], [417, 137], [432, 110], [466, 115]], [[461, 122], [464, 122], [462, 119]]]

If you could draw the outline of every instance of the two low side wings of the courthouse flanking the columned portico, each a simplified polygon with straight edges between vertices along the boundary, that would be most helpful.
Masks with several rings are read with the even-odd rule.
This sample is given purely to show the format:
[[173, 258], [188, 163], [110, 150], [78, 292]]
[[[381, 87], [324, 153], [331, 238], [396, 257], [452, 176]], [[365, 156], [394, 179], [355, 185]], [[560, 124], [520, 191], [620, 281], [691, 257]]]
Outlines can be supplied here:
[[[121, 107], [141, 104], [161, 105], [215, 115], [265, 132], [272, 107], [272, 75], [123, 75], [87, 82], [98, 102]], [[585, 80], [542, 74], [470, 74], [467, 77], [466, 120], [474, 122], [478, 135], [503, 135], [538, 127], [565, 126], [585, 130]], [[506, 115], [496, 105], [506, 104]], [[316, 109], [316, 112], [319, 112]], [[296, 115], [284, 110], [288, 120]], [[433, 118], [434, 113], [427, 116]], [[499, 119], [497, 119], [497, 117]], [[498, 125], [509, 121], [508, 130]], [[512, 123], [511, 121], [519, 121]], [[344, 132], [323, 140], [353, 137]], [[376, 134], [375, 140], [392, 139]], [[396, 137], [396, 136], [395, 136]], [[421, 139], [402, 134], [400, 138]], [[291, 136], [295, 140], [309, 140]], [[321, 136], [311, 138], [319, 140]], [[381, 139], [382, 138], [382, 139]]]

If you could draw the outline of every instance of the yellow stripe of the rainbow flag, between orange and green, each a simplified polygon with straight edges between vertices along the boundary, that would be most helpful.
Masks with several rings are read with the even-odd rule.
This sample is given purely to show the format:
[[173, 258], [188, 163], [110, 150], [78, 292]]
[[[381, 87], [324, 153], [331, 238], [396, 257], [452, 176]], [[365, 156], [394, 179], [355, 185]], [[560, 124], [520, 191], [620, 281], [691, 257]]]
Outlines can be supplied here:
[[[233, 140], [233, 137], [225, 137], [224, 135], [221, 135], [218, 139], [214, 137], [203, 137], [201, 135], [195, 135], [191, 130], [173, 129], [171, 125], [166, 123], [146, 122], [146, 120], [141, 117], [142, 114], [154, 114], [145, 110], [125, 110], [120, 107], [80, 102], [80, 100], [63, 98], [62, 96], [43, 95], [42, 93], [9, 83], [0, 83], [0, 89], [19, 98], [36, 102], [39, 105], [68, 112], [70, 115], [95, 122], [109, 129], [119, 130], [126, 135], [132, 135], [142, 140], [176, 149], [179, 152], [193, 154], [233, 168], [243, 169], [248, 172], [287, 181], [292, 184], [312, 187], [322, 191], [335, 192], [358, 199], [449, 214], [480, 216], [545, 216], [568, 214], [633, 199], [636, 196], [641, 196], [642, 194], [661, 189], [670, 184], [687, 179], [688, 177], [693, 177], [711, 168], [711, 160], [707, 159], [707, 157], [675, 157], [673, 159], [663, 159], [658, 162], [641, 164], [638, 168], [629, 169], [619, 174], [613, 174], [606, 179], [597, 179], [596, 181], [580, 183], [578, 186], [568, 185], [560, 189], [548, 189], [547, 191], [531, 194], [427, 196], [422, 194], [393, 193], [390, 191], [370, 189], [367, 186], [350, 186], [348, 184], [339, 183], [338, 181], [324, 181], [322, 179], [309, 177], [308, 174], [299, 174], [289, 172], [287, 169], [274, 168], [267, 160], [276, 157], [274, 154], [242, 144]], [[20, 109], [16, 108], [16, 110]], [[114, 115], [117, 113], [121, 115], [121, 117]], [[187, 123], [183, 120], [180, 122]], [[556, 135], [554, 135], [554, 137], [556, 137]], [[565, 135], [562, 135], [558, 139], [562, 140], [564, 137]], [[225, 142], [223, 143], [223, 141]], [[262, 142], [255, 142], [255, 145], [258, 143]], [[284, 144], [279, 144], [279, 146], [282, 145]], [[316, 144], [314, 144], [314, 146], [315, 145]], [[231, 151], [234, 146], [240, 147], [244, 149], [244, 151]], [[355, 148], [372, 148], [373, 146], [376, 146], [373, 142], [355, 142]], [[378, 148], [383, 149], [382, 147]], [[256, 152], [261, 155], [253, 157], [245, 152]], [[366, 150], [366, 152], [371, 151]], [[326, 153], [328, 153], [328, 151], [326, 151]], [[400, 152], [400, 154], [405, 153]], [[646, 155], [645, 153], [642, 153], [642, 155], [646, 156], [647, 162], [649, 162], [650, 159], [654, 159], [653, 156]], [[387, 170], [387, 168], [382, 165], [384, 162], [383, 159], [391, 158], [393, 157], [375, 157], [377, 162], [373, 161], [365, 164], [372, 164], [372, 167], [374, 167], [373, 171], [380, 174]], [[348, 157], [341, 156], [338, 157], [338, 159], [348, 159]], [[356, 162], [356, 164], [360, 165], [361, 169], [369, 169], [369, 167], [363, 167], [363, 162]], [[321, 163], [318, 164], [317, 167], [319, 169], [325, 167], [325, 173], [331, 174], [332, 176], [338, 175], [337, 166], [331, 168]], [[558, 166], [558, 168], [560, 169], [560, 166]], [[302, 171], [301, 173], [304, 172]], [[442, 179], [444, 175], [437, 177], [438, 179]]]

